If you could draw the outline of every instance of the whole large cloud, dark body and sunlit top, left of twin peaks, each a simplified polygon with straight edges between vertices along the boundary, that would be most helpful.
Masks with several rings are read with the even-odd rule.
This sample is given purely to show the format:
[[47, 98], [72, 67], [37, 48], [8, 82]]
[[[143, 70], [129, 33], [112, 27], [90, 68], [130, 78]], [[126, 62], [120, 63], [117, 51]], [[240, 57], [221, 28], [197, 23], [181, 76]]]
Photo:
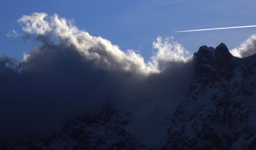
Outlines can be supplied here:
[[189, 89], [193, 62], [172, 38], [158, 37], [145, 63], [135, 51], [124, 52], [56, 14], [24, 15], [19, 22], [40, 44], [20, 62], [0, 59], [0, 139], [50, 136], [107, 103], [129, 111], [171, 103], [174, 110]]

